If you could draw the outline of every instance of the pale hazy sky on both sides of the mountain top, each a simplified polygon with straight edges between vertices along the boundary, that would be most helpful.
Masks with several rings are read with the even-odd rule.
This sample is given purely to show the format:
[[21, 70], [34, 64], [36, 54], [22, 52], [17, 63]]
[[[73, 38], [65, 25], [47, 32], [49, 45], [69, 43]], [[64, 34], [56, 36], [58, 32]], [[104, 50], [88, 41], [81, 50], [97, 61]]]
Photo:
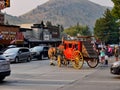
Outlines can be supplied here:
[[[2, 10], [3, 13], [12, 16], [20, 16], [36, 8], [38, 5], [44, 4], [49, 0], [10, 0], [10, 7]], [[113, 7], [111, 0], [89, 0], [102, 6]]]

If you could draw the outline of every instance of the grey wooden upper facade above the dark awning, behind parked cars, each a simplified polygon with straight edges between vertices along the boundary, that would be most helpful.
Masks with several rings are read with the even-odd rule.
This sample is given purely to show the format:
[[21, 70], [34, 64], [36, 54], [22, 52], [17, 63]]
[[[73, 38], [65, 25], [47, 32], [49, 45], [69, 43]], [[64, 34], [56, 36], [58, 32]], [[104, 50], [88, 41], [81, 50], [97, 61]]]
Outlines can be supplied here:
[[42, 22], [41, 24], [33, 24], [31, 28], [33, 36], [38, 40], [58, 40], [61, 38], [59, 26], [45, 26]]

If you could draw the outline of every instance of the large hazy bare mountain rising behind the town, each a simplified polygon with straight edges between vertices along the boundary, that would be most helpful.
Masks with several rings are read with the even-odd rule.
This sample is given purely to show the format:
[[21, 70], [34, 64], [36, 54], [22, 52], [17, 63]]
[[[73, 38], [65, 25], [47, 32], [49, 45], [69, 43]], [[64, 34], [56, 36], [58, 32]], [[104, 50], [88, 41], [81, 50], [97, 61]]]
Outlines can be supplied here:
[[23, 20], [23, 23], [50, 21], [65, 28], [77, 23], [93, 27], [96, 19], [102, 17], [106, 8], [88, 0], [49, 0], [17, 18]]

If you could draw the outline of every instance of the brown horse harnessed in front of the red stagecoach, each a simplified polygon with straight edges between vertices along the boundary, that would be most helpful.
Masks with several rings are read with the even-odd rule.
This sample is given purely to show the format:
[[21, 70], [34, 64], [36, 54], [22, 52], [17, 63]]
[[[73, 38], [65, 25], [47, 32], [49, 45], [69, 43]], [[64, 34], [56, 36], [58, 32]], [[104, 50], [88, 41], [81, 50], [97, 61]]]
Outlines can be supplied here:
[[55, 65], [53, 62], [55, 60], [55, 55], [56, 55], [56, 48], [55, 47], [50, 47], [48, 50], [48, 57], [50, 59], [50, 65]]

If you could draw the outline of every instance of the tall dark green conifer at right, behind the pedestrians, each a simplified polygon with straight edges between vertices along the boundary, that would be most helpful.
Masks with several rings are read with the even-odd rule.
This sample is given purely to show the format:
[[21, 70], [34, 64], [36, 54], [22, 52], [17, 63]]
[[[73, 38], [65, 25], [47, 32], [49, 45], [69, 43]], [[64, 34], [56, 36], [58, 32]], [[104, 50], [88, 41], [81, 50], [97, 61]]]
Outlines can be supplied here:
[[104, 43], [118, 42], [118, 26], [109, 9], [106, 9], [102, 18], [96, 20], [94, 35]]

